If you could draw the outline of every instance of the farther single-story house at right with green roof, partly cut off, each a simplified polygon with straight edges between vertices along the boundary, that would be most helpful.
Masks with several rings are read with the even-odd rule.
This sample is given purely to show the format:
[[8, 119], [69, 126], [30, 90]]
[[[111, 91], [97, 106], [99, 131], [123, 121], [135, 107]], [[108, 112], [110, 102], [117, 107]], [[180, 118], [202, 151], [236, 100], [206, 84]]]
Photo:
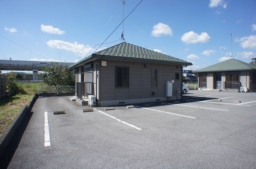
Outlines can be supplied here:
[[198, 90], [256, 92], [256, 65], [229, 59], [197, 70]]

